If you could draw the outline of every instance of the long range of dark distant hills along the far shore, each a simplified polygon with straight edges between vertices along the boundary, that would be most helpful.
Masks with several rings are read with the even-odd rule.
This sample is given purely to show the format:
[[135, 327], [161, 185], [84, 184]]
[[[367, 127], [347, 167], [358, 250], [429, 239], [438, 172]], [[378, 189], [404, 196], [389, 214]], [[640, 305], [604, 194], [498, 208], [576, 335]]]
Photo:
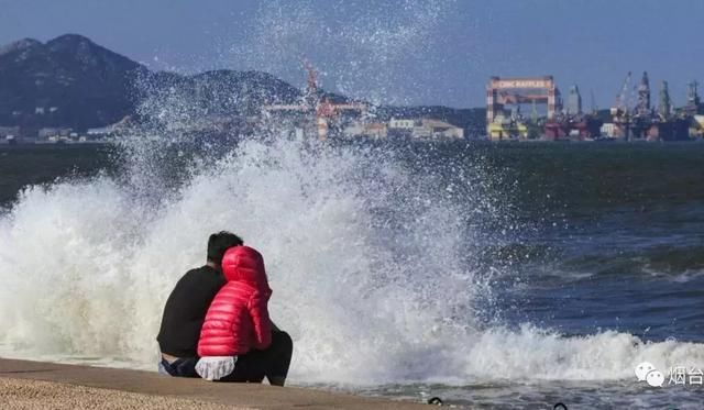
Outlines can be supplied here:
[[[176, 117], [199, 121], [242, 118], [257, 114], [264, 103], [293, 103], [300, 97], [296, 87], [261, 71], [194, 76], [150, 71], [77, 34], [46, 43], [25, 38], [0, 47], [0, 126], [19, 125], [25, 134], [43, 126], [84, 131], [127, 115], [162, 115], [163, 107], [176, 111]], [[380, 107], [377, 115], [432, 117], [470, 133], [484, 121], [482, 109], [447, 107]]]

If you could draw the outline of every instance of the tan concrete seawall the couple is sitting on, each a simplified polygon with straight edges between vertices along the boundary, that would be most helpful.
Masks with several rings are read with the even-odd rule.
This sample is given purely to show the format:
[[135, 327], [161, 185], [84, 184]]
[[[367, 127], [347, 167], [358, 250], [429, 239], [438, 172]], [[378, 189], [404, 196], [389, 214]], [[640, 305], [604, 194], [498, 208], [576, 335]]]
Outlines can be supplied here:
[[428, 409], [297, 387], [218, 384], [157, 373], [0, 358], [2, 409]]

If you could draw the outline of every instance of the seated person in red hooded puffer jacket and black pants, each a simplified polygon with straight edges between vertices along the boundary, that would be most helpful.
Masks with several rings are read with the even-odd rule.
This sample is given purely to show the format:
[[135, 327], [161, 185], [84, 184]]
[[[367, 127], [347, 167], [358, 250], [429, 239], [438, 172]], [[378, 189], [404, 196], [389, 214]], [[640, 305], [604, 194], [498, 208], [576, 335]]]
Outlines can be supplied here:
[[287, 333], [273, 325], [264, 259], [254, 248], [234, 246], [222, 257], [227, 284], [210, 303], [200, 330], [196, 366], [210, 380], [284, 386], [293, 353]]

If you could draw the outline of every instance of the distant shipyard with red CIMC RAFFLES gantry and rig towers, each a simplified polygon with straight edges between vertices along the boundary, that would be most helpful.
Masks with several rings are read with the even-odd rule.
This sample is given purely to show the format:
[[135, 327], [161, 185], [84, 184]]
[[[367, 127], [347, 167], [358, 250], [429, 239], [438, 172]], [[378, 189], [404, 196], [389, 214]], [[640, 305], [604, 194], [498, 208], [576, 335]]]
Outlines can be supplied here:
[[[592, 96], [590, 112], [584, 112], [579, 87], [572, 86], [566, 102], [560, 97], [552, 76], [527, 78], [491, 77], [486, 95], [486, 134], [493, 141], [542, 138], [625, 141], [686, 141], [704, 137], [704, 107], [697, 82], [688, 85], [686, 103], [676, 109], [670, 98], [667, 81], [660, 85], [658, 106], [651, 100], [650, 78], [644, 73], [637, 86], [631, 86], [628, 73], [615, 104], [610, 122], [604, 124], [597, 115]], [[631, 103], [632, 101], [632, 103]], [[537, 106], [544, 107], [538, 112]], [[525, 115], [521, 108], [530, 107]]]

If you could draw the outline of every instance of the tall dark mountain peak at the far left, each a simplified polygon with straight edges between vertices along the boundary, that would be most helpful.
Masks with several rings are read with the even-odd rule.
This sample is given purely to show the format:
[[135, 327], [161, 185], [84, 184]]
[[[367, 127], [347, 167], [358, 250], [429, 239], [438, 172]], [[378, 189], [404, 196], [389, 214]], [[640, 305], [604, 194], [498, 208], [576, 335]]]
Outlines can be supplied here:
[[0, 48], [0, 124], [86, 129], [134, 107], [134, 80], [146, 68], [90, 40], [66, 34]]

